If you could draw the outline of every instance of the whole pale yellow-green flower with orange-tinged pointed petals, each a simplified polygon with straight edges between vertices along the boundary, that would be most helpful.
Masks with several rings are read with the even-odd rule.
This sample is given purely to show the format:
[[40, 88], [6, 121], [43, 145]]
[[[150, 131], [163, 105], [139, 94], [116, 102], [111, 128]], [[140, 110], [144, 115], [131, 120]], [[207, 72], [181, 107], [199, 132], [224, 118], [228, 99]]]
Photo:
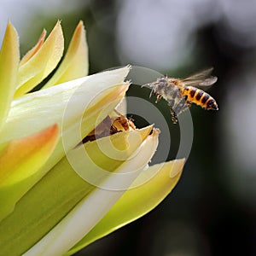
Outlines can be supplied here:
[[73, 254], [157, 206], [183, 168], [148, 167], [159, 131], [114, 111], [130, 67], [87, 76], [82, 21], [62, 61], [61, 23], [45, 37], [20, 61], [9, 23], [0, 52], [0, 255]]

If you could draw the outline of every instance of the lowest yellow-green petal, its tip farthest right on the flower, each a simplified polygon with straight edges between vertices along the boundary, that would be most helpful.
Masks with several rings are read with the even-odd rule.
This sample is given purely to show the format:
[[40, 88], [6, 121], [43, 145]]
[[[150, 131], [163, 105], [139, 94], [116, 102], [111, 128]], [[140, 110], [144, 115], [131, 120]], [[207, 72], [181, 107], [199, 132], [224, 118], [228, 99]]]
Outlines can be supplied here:
[[131, 223], [160, 204], [176, 186], [183, 164], [184, 160], [173, 160], [164, 165], [150, 166], [131, 185], [134, 189], [127, 190], [102, 220], [65, 255], [78, 252], [91, 242]]

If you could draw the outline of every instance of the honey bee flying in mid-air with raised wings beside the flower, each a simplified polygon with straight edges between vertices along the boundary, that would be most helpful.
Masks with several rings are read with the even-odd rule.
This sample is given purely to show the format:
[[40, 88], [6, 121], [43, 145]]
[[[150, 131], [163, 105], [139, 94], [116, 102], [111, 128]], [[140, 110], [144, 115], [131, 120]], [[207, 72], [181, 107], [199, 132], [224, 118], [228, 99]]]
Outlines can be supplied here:
[[142, 87], [152, 88], [150, 96], [154, 92], [156, 103], [162, 97], [168, 102], [172, 113], [172, 122], [176, 124], [177, 115], [188, 109], [191, 103], [195, 103], [207, 110], [218, 110], [218, 105], [212, 96], [204, 90], [195, 87], [210, 86], [216, 83], [217, 77], [210, 76], [211, 73], [212, 68], [209, 68], [185, 79], [174, 79], [167, 76], [160, 77], [154, 83], [143, 84]]

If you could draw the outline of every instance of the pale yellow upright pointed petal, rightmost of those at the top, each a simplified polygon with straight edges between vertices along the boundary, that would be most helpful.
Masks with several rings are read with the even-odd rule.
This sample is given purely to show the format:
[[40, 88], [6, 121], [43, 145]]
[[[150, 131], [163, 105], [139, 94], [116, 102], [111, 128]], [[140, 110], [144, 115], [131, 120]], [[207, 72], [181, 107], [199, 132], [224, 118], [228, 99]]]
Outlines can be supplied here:
[[44, 88], [79, 79], [88, 74], [88, 47], [83, 21], [79, 22], [60, 67]]

